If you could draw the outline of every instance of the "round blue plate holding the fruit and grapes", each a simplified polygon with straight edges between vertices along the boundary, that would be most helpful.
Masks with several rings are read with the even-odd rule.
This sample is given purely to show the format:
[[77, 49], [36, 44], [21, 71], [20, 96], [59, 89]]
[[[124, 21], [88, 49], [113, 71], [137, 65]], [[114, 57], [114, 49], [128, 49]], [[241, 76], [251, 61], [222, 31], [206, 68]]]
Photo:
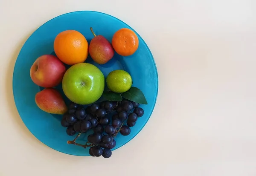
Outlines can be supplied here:
[[[53, 41], [58, 33], [68, 29], [77, 30], [87, 38], [89, 43], [93, 38], [90, 27], [93, 27], [96, 35], [103, 35], [109, 41], [112, 40], [112, 36], [117, 30], [121, 28], [131, 29], [121, 20], [100, 12], [81, 11], [63, 14], [49, 20], [29, 37], [18, 55], [13, 73], [15, 104], [26, 127], [36, 138], [52, 149], [77, 156], [89, 156], [89, 149], [67, 144], [67, 141], [73, 140], [75, 136], [66, 134], [66, 128], [60, 124], [61, 115], [45, 113], [37, 107], [35, 94], [43, 88], [32, 82], [29, 70], [39, 56], [54, 54]], [[115, 53], [114, 58], [104, 65], [94, 63], [90, 56], [86, 60], [86, 62], [93, 63], [101, 69], [105, 77], [113, 70], [126, 70], [131, 74], [133, 86], [141, 89], [148, 101], [147, 105], [141, 105], [145, 113], [137, 120], [136, 125], [131, 127], [131, 134], [116, 136], [114, 149], [126, 144], [140, 132], [150, 118], [157, 99], [158, 77], [154, 58], [143, 39], [138, 34], [137, 36], [139, 48], [129, 57], [122, 57]], [[61, 85], [57, 89], [62, 91]], [[89, 133], [83, 134], [77, 142], [85, 143], [83, 140], [87, 138]]]

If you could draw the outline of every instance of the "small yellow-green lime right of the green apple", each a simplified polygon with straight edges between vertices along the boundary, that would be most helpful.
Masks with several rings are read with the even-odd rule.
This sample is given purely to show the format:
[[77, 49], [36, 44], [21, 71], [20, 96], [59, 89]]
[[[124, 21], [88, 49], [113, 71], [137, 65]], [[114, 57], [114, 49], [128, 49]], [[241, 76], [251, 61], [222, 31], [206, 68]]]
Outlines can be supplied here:
[[113, 92], [122, 93], [131, 88], [131, 75], [124, 70], [114, 70], [107, 76], [107, 86]]

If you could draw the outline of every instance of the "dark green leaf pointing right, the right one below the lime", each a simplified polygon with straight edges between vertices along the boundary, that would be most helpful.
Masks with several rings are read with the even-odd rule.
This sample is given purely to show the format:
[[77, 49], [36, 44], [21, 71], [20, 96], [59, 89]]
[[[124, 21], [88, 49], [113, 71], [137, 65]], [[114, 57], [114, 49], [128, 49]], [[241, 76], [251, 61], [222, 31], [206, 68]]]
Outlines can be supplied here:
[[148, 104], [143, 92], [137, 87], [131, 87], [128, 91], [122, 93], [122, 96], [135, 103]]

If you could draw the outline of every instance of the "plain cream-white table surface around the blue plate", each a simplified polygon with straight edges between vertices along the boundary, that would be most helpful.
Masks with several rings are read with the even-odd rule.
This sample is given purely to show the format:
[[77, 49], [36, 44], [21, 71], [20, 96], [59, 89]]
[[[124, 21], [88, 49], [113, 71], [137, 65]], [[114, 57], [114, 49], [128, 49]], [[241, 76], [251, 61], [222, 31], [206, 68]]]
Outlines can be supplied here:
[[[128, 23], [157, 64], [154, 112], [110, 159], [42, 144], [13, 99], [12, 73], [26, 39], [79, 10]], [[0, 176], [255, 176], [255, 31], [253, 0], [0, 0]]]

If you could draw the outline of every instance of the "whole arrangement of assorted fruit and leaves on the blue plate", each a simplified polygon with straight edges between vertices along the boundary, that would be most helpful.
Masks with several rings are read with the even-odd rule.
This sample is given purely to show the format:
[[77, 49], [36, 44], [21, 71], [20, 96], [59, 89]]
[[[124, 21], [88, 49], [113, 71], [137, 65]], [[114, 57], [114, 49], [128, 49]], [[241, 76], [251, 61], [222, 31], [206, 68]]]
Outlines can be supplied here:
[[[61, 126], [66, 127], [69, 136], [77, 134], [73, 141], [84, 148], [90, 147], [90, 156], [109, 158], [116, 146], [115, 137], [120, 133], [128, 136], [144, 110], [140, 104], [147, 104], [143, 92], [132, 87], [131, 75], [125, 70], [113, 70], [105, 80], [101, 70], [86, 63], [88, 54], [94, 62], [105, 64], [113, 58], [114, 52], [122, 56], [134, 54], [139, 46], [137, 35], [131, 29], [119, 29], [112, 38], [112, 44], [102, 35], [96, 35], [88, 45], [80, 32], [67, 30], [54, 40], [53, 55], [36, 59], [30, 69], [32, 81], [45, 87], [35, 95], [37, 106], [52, 114], [61, 114]], [[66, 69], [65, 64], [70, 65]], [[105, 81], [108, 90], [105, 90]], [[60, 92], [54, 87], [62, 83], [64, 94], [70, 100], [67, 107]], [[104, 91], [105, 90], [105, 91]], [[99, 98], [105, 101], [97, 103]], [[76, 139], [81, 133], [93, 130], [85, 144]]]

